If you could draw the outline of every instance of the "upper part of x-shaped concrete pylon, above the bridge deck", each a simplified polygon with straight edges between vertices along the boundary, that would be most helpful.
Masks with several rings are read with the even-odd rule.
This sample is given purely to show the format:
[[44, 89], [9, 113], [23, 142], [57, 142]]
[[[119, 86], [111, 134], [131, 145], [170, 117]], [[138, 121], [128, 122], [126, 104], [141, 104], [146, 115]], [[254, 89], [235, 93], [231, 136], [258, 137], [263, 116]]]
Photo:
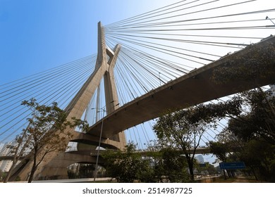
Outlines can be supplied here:
[[[117, 44], [114, 51], [109, 49], [109, 47], [105, 44], [104, 28], [101, 26], [100, 22], [98, 24], [98, 30], [98, 53], [96, 67], [80, 91], [78, 91], [78, 94], [76, 94], [71, 103], [68, 104], [66, 108], [68, 120], [70, 120], [71, 117], [82, 117], [82, 114], [87, 108], [95, 90], [99, 86], [102, 77], [104, 77], [107, 114], [118, 108], [118, 94], [114, 80], [114, 65], [116, 64], [116, 59], [121, 46]], [[109, 56], [109, 58], [107, 58], [107, 56]]]

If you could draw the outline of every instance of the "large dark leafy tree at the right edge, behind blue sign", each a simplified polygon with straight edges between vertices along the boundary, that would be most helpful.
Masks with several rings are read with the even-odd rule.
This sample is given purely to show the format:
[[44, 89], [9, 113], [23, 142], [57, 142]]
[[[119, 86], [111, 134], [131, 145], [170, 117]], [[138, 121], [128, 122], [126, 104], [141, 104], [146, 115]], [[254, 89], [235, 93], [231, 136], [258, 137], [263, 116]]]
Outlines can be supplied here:
[[[228, 126], [219, 134], [219, 144], [227, 146], [226, 159], [242, 160], [255, 178], [274, 182], [275, 98], [262, 88], [238, 94], [243, 113], [231, 117]], [[235, 151], [232, 147], [238, 147]], [[219, 151], [223, 148], [220, 146]]]

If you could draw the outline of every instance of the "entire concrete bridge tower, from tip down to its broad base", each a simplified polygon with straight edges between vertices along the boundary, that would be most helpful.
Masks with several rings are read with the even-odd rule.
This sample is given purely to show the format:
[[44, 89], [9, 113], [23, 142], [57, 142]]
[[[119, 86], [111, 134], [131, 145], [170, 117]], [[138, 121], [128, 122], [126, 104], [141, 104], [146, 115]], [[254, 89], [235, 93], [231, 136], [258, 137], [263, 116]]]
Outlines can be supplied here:
[[[104, 90], [106, 101], [106, 115], [112, 113], [119, 106], [116, 84], [114, 81], [114, 66], [121, 46], [117, 44], [114, 50], [111, 50], [105, 43], [104, 27], [98, 23], [98, 51], [97, 62], [94, 72], [81, 87], [71, 103], [66, 107], [68, 114], [67, 120], [72, 117], [81, 118], [87, 106], [94, 95], [94, 92], [99, 87], [99, 84], [104, 78]], [[104, 118], [103, 118], [104, 119]], [[103, 120], [102, 119], [102, 120]], [[103, 124], [103, 121], [102, 121]], [[99, 144], [99, 136], [75, 132], [75, 128], [68, 129], [73, 134], [69, 141], [78, 142], [78, 151], [70, 152], [54, 152], [49, 153], [44, 158], [35, 173], [34, 179], [66, 179], [68, 178], [67, 167], [73, 163], [95, 163], [95, 155], [91, 154], [91, 147], [95, 148]], [[102, 129], [104, 132], [104, 127]], [[83, 145], [84, 144], [84, 145]], [[111, 147], [122, 149], [126, 146], [126, 137], [123, 131], [114, 134], [109, 139], [102, 139], [102, 147]], [[95, 150], [94, 150], [95, 152]], [[100, 162], [100, 161], [99, 161]], [[21, 180], [26, 180], [32, 166], [32, 158], [21, 162], [13, 171], [11, 180], [20, 177]]]

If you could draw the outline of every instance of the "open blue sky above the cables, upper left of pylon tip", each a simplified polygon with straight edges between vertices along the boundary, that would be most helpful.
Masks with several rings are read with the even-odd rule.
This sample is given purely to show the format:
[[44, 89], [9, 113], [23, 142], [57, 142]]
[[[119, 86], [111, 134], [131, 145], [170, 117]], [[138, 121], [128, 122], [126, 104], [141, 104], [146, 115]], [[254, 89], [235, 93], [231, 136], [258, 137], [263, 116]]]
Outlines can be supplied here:
[[97, 53], [97, 23], [175, 1], [0, 0], [0, 84]]

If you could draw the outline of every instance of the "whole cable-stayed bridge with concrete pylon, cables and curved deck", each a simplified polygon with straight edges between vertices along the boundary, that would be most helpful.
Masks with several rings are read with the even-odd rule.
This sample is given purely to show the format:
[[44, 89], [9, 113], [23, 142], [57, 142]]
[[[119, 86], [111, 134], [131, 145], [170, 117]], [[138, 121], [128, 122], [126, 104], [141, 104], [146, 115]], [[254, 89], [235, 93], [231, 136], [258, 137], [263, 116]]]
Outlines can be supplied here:
[[[71, 141], [78, 142], [78, 153], [84, 153], [94, 150], [99, 139], [102, 147], [122, 148], [127, 141], [124, 133], [142, 146], [139, 135], [143, 132], [148, 142], [147, 128], [129, 132], [130, 128], [135, 130], [135, 125], [158, 117], [167, 108], [187, 108], [252, 89], [252, 82], [218, 85], [209, 79], [214, 68], [231, 58], [249, 57], [247, 46], [252, 43], [259, 42], [252, 47], [274, 44], [274, 37], [264, 38], [274, 30], [274, 19], [267, 15], [275, 9], [224, 13], [252, 1], [223, 6], [215, 2], [179, 1], [104, 27], [99, 23], [96, 55], [1, 85], [1, 141], [13, 139], [26, 127], [30, 112], [20, 102], [32, 97], [40, 103], [56, 101], [68, 117], [90, 122], [87, 134], [72, 130]], [[207, 15], [197, 17], [198, 13]], [[229, 51], [238, 52], [226, 56]], [[259, 82], [272, 84], [274, 77], [259, 78]], [[37, 174], [62, 177], [71, 163], [95, 162], [91, 155], [73, 151], [51, 155]], [[25, 179], [27, 165], [23, 167], [19, 165], [18, 173]]]

